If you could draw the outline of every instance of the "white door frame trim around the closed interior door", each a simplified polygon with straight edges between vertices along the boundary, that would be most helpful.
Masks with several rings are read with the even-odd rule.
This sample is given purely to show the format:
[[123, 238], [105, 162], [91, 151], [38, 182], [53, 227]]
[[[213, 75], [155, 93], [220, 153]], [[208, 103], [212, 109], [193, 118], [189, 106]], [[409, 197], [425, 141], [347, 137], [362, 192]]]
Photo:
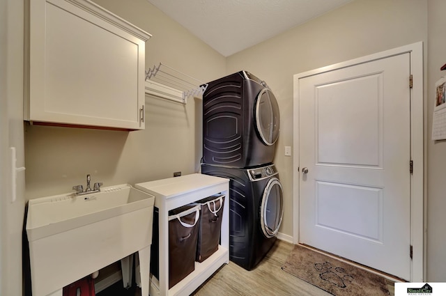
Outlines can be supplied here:
[[413, 75], [413, 88], [410, 89], [410, 155], [414, 167], [410, 176], [410, 242], [413, 247], [410, 281], [422, 282], [425, 278], [423, 42], [293, 75], [293, 243], [298, 244], [300, 240], [299, 79], [405, 53], [410, 53], [410, 74]]

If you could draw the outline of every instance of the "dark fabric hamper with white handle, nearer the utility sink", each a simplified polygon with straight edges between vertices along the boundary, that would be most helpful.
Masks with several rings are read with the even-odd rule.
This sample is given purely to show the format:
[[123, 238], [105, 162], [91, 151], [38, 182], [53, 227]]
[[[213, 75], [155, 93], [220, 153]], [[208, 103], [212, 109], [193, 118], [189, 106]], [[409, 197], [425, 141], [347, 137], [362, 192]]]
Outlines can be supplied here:
[[169, 289], [195, 270], [199, 205], [169, 211]]

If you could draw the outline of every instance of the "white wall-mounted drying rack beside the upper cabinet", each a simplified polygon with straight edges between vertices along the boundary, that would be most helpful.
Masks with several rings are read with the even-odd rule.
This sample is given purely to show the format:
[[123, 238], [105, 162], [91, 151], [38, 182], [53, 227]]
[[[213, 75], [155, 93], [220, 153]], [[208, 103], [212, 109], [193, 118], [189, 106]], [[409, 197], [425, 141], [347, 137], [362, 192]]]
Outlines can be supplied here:
[[203, 95], [208, 84], [160, 63], [146, 70], [146, 93], [182, 104], [190, 96]]

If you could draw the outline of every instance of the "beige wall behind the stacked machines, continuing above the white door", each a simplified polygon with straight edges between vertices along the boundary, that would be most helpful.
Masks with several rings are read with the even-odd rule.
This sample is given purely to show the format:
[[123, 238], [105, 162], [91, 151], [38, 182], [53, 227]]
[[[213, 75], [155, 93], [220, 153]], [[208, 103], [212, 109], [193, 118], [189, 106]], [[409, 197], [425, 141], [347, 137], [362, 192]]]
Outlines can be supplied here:
[[293, 235], [293, 75], [367, 54], [426, 42], [426, 1], [357, 0], [266, 42], [229, 56], [228, 72], [244, 69], [264, 79], [281, 111], [275, 164], [284, 186], [281, 233]]

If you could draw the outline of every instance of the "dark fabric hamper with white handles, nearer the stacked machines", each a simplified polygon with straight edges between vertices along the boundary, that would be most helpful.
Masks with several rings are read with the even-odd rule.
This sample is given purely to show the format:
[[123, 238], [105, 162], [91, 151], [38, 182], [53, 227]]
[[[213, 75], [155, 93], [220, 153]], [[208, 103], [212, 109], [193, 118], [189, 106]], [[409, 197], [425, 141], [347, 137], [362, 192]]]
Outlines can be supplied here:
[[203, 262], [218, 250], [222, 230], [224, 195], [209, 196], [197, 201], [197, 204], [201, 206], [201, 217], [195, 260]]

